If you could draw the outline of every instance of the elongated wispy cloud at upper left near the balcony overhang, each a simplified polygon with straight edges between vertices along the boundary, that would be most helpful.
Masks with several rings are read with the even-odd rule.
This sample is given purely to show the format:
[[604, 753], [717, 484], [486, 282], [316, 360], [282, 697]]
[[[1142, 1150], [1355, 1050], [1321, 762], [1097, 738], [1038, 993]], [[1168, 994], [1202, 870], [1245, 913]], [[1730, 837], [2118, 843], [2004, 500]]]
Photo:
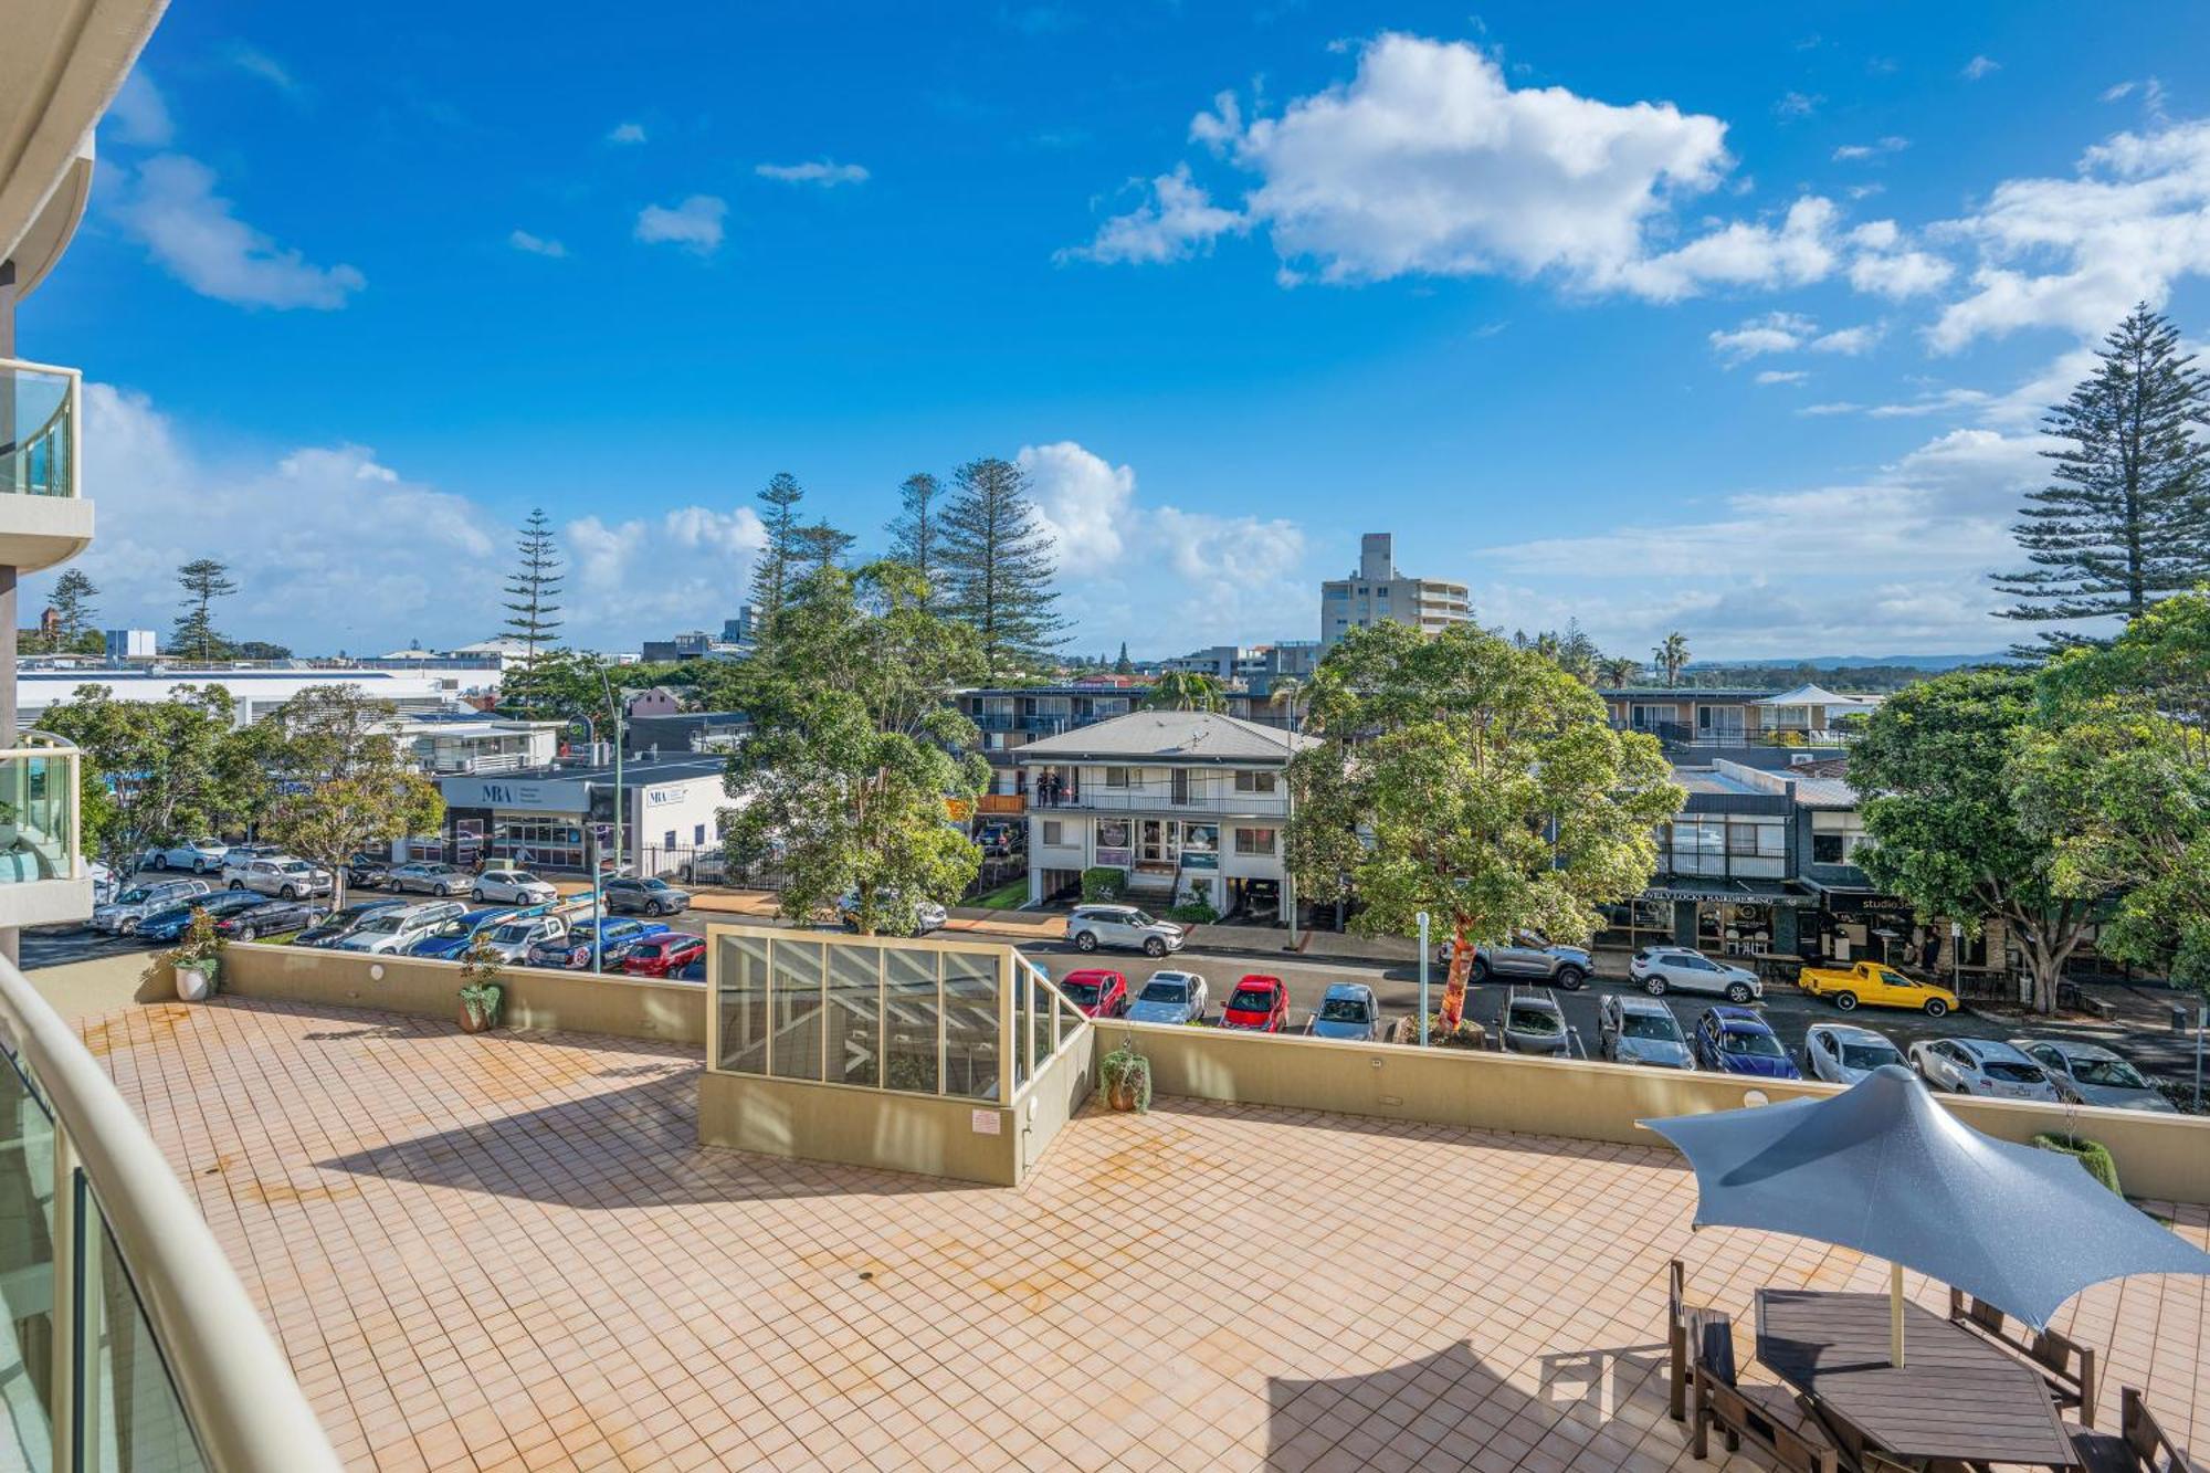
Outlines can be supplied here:
[[367, 285], [351, 265], [312, 265], [214, 192], [214, 170], [181, 153], [137, 166], [113, 208], [122, 228], [203, 296], [245, 307], [343, 307]]

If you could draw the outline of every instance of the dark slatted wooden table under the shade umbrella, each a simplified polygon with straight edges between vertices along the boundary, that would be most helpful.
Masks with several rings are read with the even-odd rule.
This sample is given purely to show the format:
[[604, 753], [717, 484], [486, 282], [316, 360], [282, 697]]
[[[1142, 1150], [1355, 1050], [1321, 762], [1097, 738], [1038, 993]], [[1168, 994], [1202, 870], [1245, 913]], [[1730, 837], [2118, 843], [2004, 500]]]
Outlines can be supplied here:
[[1918, 1305], [1903, 1307], [1896, 1369], [1885, 1294], [1759, 1289], [1757, 1358], [1810, 1396], [1852, 1453], [2080, 1466], [2040, 1373]]

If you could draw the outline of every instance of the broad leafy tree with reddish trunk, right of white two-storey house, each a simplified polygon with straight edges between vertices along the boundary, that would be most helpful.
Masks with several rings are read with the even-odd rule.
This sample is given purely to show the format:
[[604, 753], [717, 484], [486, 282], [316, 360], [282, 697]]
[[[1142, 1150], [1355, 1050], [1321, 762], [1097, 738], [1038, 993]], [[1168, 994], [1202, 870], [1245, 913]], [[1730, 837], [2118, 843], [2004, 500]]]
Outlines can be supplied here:
[[1355, 894], [1366, 933], [1434, 916], [1456, 942], [1445, 1028], [1474, 944], [1593, 936], [1598, 905], [1651, 882], [1655, 829], [1686, 801], [1653, 736], [1613, 732], [1593, 690], [1470, 624], [1350, 630], [1311, 690], [1322, 741], [1288, 767], [1293, 874], [1315, 900]]

